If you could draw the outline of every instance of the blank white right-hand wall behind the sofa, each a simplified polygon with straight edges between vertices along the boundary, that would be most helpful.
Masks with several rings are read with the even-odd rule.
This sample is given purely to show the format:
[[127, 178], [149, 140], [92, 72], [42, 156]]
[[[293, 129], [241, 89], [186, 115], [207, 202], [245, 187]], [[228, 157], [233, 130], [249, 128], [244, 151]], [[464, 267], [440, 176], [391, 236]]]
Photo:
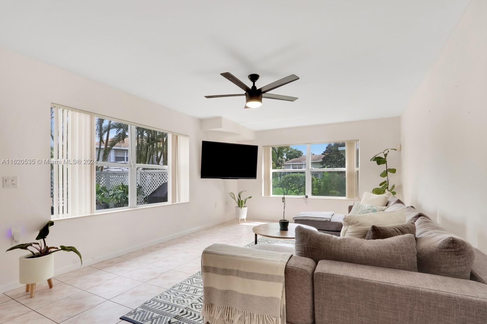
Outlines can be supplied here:
[[487, 2], [472, 0], [401, 116], [404, 197], [487, 252]]

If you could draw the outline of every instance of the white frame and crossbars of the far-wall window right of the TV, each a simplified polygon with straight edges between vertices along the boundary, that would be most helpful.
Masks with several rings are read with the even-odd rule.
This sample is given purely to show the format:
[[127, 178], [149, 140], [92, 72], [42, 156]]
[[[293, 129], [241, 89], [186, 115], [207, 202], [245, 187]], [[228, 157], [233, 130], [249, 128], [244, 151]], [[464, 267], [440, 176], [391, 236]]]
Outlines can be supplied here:
[[[359, 147], [356, 145], [356, 162], [354, 162], [355, 167], [355, 197], [346, 197], [346, 196], [313, 196], [312, 195], [312, 188], [311, 188], [311, 183], [312, 183], [312, 175], [311, 172], [338, 172], [338, 171], [344, 171], [346, 172], [346, 168], [313, 168], [311, 167], [311, 145], [313, 144], [332, 144], [332, 143], [339, 143], [339, 142], [347, 142], [347, 141], [334, 141], [334, 142], [321, 142], [321, 143], [312, 143], [312, 144], [287, 144], [287, 145], [272, 145], [272, 147], [279, 147], [279, 146], [294, 146], [294, 145], [306, 145], [306, 162], [305, 162], [305, 168], [301, 169], [272, 169], [272, 161], [270, 163], [270, 183], [269, 183], [269, 192], [270, 192], [270, 197], [282, 197], [281, 195], [273, 195], [272, 194], [272, 175], [274, 173], [279, 173], [279, 172], [300, 172], [302, 173], [304, 171], [305, 174], [305, 194], [304, 195], [289, 195], [286, 197], [292, 197], [292, 198], [335, 198], [335, 199], [356, 199], [358, 195], [358, 174], [359, 174]], [[353, 142], [359, 143], [359, 140], [353, 140]], [[345, 151], [346, 152], [346, 151]], [[295, 164], [295, 163], [293, 163]], [[345, 175], [345, 181], [347, 182], [347, 178]], [[345, 194], [346, 195], [346, 194]]]

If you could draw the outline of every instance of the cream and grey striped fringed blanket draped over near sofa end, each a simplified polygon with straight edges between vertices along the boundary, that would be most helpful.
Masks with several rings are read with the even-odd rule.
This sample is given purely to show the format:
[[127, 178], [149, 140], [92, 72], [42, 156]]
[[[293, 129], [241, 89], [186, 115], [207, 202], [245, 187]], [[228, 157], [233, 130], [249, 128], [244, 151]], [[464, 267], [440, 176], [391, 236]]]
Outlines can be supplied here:
[[209, 324], [286, 324], [290, 253], [213, 244], [203, 251], [203, 315]]

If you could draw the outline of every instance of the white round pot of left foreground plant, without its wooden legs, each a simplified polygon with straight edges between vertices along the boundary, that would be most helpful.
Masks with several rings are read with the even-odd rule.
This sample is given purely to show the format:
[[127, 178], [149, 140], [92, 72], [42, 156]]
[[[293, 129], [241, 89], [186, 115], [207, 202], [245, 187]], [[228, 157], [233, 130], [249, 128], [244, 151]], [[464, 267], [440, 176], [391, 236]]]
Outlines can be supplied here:
[[21, 284], [35, 284], [54, 277], [54, 254], [30, 258], [32, 254], [19, 257], [19, 281]]

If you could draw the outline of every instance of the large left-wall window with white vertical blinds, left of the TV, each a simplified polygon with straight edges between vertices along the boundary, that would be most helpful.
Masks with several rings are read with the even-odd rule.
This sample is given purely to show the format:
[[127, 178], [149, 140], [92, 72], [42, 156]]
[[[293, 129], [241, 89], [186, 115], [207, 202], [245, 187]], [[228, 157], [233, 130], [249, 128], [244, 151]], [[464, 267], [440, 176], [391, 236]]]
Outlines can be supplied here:
[[51, 107], [52, 218], [189, 201], [189, 138]]

